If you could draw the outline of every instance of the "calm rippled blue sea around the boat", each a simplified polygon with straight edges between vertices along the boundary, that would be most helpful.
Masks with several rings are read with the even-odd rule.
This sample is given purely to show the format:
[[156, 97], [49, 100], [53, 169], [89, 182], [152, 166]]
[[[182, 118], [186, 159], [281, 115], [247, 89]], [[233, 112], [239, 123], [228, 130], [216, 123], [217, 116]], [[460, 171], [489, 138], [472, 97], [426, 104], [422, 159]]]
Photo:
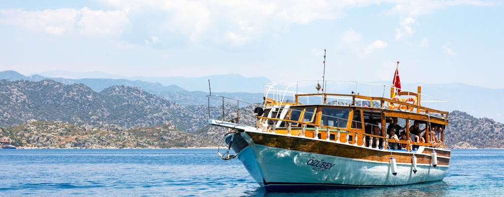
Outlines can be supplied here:
[[0, 150], [0, 196], [502, 196], [504, 150], [453, 150], [443, 181], [267, 193], [213, 149]]

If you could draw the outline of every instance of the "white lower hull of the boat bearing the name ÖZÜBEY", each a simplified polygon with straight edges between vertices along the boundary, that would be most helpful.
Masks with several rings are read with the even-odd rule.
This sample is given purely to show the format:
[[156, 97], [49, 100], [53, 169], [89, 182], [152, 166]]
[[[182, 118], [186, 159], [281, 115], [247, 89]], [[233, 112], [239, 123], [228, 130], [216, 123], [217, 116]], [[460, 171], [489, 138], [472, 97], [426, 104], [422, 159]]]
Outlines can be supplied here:
[[[250, 137], [240, 133], [244, 139]], [[269, 191], [330, 187], [377, 187], [443, 180], [448, 166], [337, 157], [248, 143], [237, 155], [251, 176]]]

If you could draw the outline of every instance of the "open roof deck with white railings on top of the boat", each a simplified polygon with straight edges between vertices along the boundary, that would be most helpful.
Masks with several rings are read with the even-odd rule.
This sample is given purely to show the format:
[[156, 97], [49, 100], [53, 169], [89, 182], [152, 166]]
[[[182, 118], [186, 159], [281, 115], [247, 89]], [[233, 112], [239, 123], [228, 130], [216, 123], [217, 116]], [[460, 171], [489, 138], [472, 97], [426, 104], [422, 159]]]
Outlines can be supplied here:
[[[401, 92], [395, 94], [394, 87], [385, 84], [329, 80], [325, 81], [325, 85], [317, 91], [316, 84], [318, 83], [317, 80], [300, 80], [289, 85], [285, 90], [280, 90], [277, 84], [265, 84], [264, 105], [266, 108], [285, 104], [367, 107], [379, 108], [391, 116], [407, 114], [448, 120], [449, 112], [444, 111], [448, 106], [448, 101], [421, 94], [420, 86], [416, 91], [402, 89]], [[295, 90], [291, 90], [294, 87]]]

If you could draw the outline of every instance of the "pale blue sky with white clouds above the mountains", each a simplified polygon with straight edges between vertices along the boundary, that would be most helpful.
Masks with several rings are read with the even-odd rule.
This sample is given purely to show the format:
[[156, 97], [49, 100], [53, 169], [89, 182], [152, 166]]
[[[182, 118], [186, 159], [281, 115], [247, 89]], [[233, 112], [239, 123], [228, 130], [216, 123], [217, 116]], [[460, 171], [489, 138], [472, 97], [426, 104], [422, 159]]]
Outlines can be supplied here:
[[11, 1], [0, 71], [504, 88], [501, 1]]

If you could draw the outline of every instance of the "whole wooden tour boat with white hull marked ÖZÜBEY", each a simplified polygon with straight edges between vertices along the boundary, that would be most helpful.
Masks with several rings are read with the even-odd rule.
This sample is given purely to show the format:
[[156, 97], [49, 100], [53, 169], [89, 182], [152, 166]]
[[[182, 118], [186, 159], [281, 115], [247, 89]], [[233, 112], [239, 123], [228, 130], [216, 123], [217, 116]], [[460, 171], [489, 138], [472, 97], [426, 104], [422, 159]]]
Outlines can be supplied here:
[[[298, 81], [295, 87], [301, 87], [301, 82], [311, 81]], [[412, 122], [427, 127], [427, 131], [428, 126], [444, 130], [448, 112], [422, 106], [421, 99], [428, 98], [426, 105], [446, 101], [422, 95], [421, 87], [416, 92], [395, 93], [393, 86], [383, 84], [324, 82], [326, 90], [331, 83], [339, 88], [348, 87], [341, 83], [355, 84], [352, 86], [369, 91], [364, 96], [357, 91], [319, 92], [321, 86], [313, 82], [317, 83], [318, 93], [279, 91], [276, 85], [265, 85], [264, 103], [260, 105], [208, 96], [209, 116], [219, 115], [210, 118], [209, 124], [229, 129], [225, 141], [235, 152], [219, 153], [221, 158], [238, 158], [268, 191], [393, 186], [445, 177], [451, 151], [445, 149], [443, 133], [439, 133], [439, 139], [433, 136], [435, 132], [419, 133], [419, 137], [429, 139], [426, 142], [415, 142], [411, 133], [421, 130]], [[370, 88], [366, 90], [362, 85]], [[376, 87], [383, 91], [373, 91]], [[389, 87], [391, 97], [385, 98]], [[214, 99], [219, 104], [212, 102]], [[241, 123], [245, 122], [246, 112], [240, 106], [254, 113], [255, 122]], [[211, 109], [218, 112], [212, 113]], [[393, 149], [391, 145], [397, 141], [387, 137], [387, 127], [394, 124], [395, 118], [403, 123], [395, 127], [404, 128], [406, 136], [410, 136], [398, 142], [402, 145], [399, 149]], [[370, 132], [373, 127], [379, 134]]]

